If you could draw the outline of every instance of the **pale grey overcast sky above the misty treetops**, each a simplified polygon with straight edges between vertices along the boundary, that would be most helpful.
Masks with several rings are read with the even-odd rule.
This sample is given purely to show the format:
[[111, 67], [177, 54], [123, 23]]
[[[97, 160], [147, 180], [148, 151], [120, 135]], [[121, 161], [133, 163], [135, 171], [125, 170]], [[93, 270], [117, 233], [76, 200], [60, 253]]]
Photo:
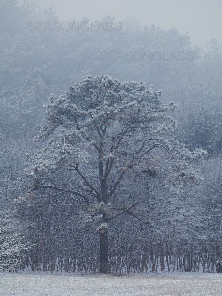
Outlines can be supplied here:
[[[23, 3], [24, 0], [19, 0]], [[211, 38], [222, 42], [222, 0], [38, 0], [39, 6], [53, 7], [61, 21], [85, 15], [93, 20], [115, 16], [117, 21], [127, 17], [163, 29], [176, 27], [180, 34], [189, 31], [192, 44]]]

